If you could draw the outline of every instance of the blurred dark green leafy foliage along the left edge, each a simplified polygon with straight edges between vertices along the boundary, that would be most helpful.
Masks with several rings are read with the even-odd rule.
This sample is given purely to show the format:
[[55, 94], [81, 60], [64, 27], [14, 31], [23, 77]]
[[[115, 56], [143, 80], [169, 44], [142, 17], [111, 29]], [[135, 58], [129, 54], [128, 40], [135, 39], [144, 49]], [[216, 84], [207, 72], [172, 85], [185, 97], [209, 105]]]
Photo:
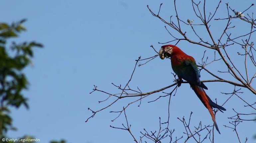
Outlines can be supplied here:
[[36, 42], [24, 42], [16, 44], [12, 42], [10, 48], [7, 48], [7, 41], [10, 38], [18, 37], [19, 33], [25, 31], [22, 25], [26, 20], [19, 22], [0, 23], [0, 137], [9, 129], [15, 129], [12, 126], [12, 118], [9, 116], [9, 108], [19, 108], [24, 105], [29, 108], [27, 98], [21, 91], [28, 88], [28, 81], [22, 70], [30, 65], [33, 57], [34, 47], [43, 47]]

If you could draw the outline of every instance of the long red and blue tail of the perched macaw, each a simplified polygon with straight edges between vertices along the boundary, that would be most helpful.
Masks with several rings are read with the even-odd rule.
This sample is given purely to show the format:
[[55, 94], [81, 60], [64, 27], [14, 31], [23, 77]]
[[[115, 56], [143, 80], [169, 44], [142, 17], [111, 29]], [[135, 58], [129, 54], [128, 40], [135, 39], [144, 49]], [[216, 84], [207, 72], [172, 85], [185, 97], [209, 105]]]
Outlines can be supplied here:
[[[212, 111], [212, 107], [213, 108], [218, 108], [220, 111], [221, 110], [226, 110], [225, 108], [217, 105], [216, 103], [212, 102], [212, 100], [209, 98], [209, 96], [205, 93], [205, 91], [203, 90], [203, 88], [196, 86], [196, 85], [192, 85], [190, 84], [191, 88], [194, 90], [195, 94], [197, 95], [197, 97], [201, 100], [201, 102], [203, 103], [203, 105], [208, 109], [208, 111], [210, 112], [211, 115], [211, 119], [215, 125], [216, 130], [219, 132], [219, 128], [218, 125], [215, 121], [215, 116], [213, 114]], [[221, 111], [222, 112], [222, 111]], [[219, 132], [220, 134], [220, 132]]]

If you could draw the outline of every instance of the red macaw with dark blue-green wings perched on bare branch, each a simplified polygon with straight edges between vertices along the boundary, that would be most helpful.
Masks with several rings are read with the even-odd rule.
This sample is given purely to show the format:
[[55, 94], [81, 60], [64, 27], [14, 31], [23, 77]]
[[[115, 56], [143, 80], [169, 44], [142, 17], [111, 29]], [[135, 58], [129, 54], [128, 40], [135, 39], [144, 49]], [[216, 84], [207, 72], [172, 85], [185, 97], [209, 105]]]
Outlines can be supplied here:
[[221, 112], [226, 111], [226, 109], [214, 103], [205, 93], [204, 89], [208, 88], [200, 81], [200, 73], [195, 63], [195, 59], [192, 56], [185, 54], [180, 48], [174, 45], [162, 46], [159, 51], [159, 56], [161, 59], [171, 57], [173, 71], [178, 75], [179, 78], [178, 86], [181, 85], [182, 79], [189, 82], [192, 90], [194, 90], [197, 97], [210, 112], [215, 128], [219, 132], [212, 108], [217, 108]]

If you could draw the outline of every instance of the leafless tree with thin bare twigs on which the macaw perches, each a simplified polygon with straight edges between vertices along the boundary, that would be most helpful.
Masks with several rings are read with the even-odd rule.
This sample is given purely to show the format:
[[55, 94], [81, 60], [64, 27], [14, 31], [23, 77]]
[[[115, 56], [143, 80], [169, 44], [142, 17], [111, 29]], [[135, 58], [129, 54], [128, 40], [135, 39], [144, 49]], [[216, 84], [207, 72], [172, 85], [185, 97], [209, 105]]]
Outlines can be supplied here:
[[[161, 21], [163, 21], [166, 26], [167, 32], [172, 37], [172, 40], [166, 42], [166, 43], [172, 43], [173, 45], [177, 45], [180, 41], [188, 41], [191, 44], [195, 44], [201, 47], [204, 47], [205, 50], [212, 51], [212, 59], [209, 61], [208, 56], [205, 56], [205, 52], [202, 56], [202, 60], [200, 63], [198, 63], [198, 67], [200, 71], [206, 71], [208, 74], [212, 76], [212, 79], [210, 80], [204, 80], [202, 82], [224, 82], [226, 84], [233, 85], [233, 89], [230, 93], [223, 93], [225, 95], [229, 95], [229, 98], [225, 101], [228, 102], [229, 99], [232, 96], [237, 96], [241, 101], [245, 103], [245, 113], [239, 113], [236, 111], [236, 109], [233, 109], [234, 116], [229, 117], [230, 122], [228, 125], [225, 125], [225, 127], [231, 128], [236, 136], [238, 141], [241, 142], [247, 142], [247, 138], [240, 139], [239, 133], [237, 132], [237, 125], [239, 125], [241, 122], [251, 122], [255, 121], [256, 113], [246, 113], [246, 109], [250, 108], [256, 111], [256, 101], [254, 100], [246, 100], [243, 97], [243, 92], [241, 92], [240, 89], [246, 89], [250, 91], [251, 94], [256, 95], [256, 89], [253, 87], [255, 86], [254, 78], [256, 77], [256, 61], [254, 59], [256, 49], [254, 47], [254, 40], [255, 37], [255, 31], [256, 31], [256, 23], [253, 17], [253, 13], [247, 14], [247, 11], [251, 8], [253, 8], [254, 4], [250, 4], [247, 9], [245, 9], [242, 12], [235, 11], [232, 7], [228, 5], [228, 3], [223, 4], [221, 1], [216, 5], [214, 10], [210, 13], [206, 13], [206, 0], [203, 2], [195, 2], [194, 0], [191, 1], [191, 6], [193, 9], [193, 14], [196, 18], [196, 20], [192, 19], [184, 19], [183, 17], [179, 16], [179, 10], [177, 8], [176, 0], [174, 0], [174, 8], [175, 8], [175, 15], [170, 16], [170, 19], [166, 20], [165, 18], [161, 17], [161, 6], [160, 4], [159, 10], [152, 10], [149, 6], [148, 10], [149, 12], [156, 18], [159, 18]], [[226, 6], [226, 13], [221, 15], [217, 15], [217, 12], [219, 11], [220, 5]], [[254, 8], [255, 9], [255, 8]], [[195, 22], [196, 21], [196, 22]], [[241, 33], [240, 35], [233, 36], [232, 35], [232, 29], [235, 29], [237, 27], [240, 27], [240, 23], [242, 22], [246, 28], [244, 28], [244, 33]], [[218, 25], [218, 23], [221, 23]], [[223, 25], [224, 23], [224, 25]], [[238, 23], [238, 24], [237, 24]], [[219, 26], [219, 31], [217, 36], [213, 36], [211, 31], [211, 24], [217, 24]], [[207, 37], [203, 37], [200, 32], [198, 31], [204, 30], [204, 32], [207, 33]], [[187, 32], [185, 31], [187, 30]], [[176, 31], [176, 32], [174, 32]], [[189, 31], [189, 32], [188, 32]], [[216, 31], [215, 31], [216, 32]], [[178, 33], [178, 34], [173, 34]], [[216, 34], [215, 34], [216, 35]], [[181, 38], [179, 38], [181, 37]], [[160, 44], [166, 44], [166, 43], [160, 43]], [[155, 131], [149, 131], [147, 129], [142, 129], [140, 131], [141, 135], [139, 137], [136, 137], [133, 132], [131, 131], [131, 125], [128, 122], [128, 116], [126, 114], [126, 109], [133, 103], [139, 103], [138, 106], [140, 106], [140, 103], [144, 98], [147, 98], [148, 96], [157, 93], [162, 92], [162, 95], [157, 97], [155, 100], [150, 102], [155, 102], [158, 99], [162, 97], [169, 97], [169, 106], [171, 97], [176, 94], [176, 91], [178, 89], [177, 83], [173, 83], [170, 86], [164, 87], [162, 89], [155, 89], [153, 91], [149, 92], [142, 92], [138, 87], [137, 89], [130, 88], [130, 81], [133, 78], [133, 75], [136, 71], [136, 68], [138, 66], [142, 66], [144, 64], [147, 64], [151, 60], [158, 57], [158, 50], [154, 48], [154, 46], [151, 46], [152, 50], [156, 52], [156, 55], [151, 56], [149, 58], [142, 59], [139, 57], [136, 60], [134, 69], [132, 71], [132, 74], [130, 76], [130, 79], [125, 84], [125, 86], [121, 85], [112, 85], [119, 89], [119, 93], [109, 93], [107, 91], [103, 91], [97, 88], [97, 86], [94, 85], [94, 89], [92, 92], [98, 92], [106, 96], [105, 99], [99, 101], [101, 102], [108, 102], [108, 105], [105, 107], [100, 108], [99, 110], [92, 110], [88, 108], [92, 112], [92, 115], [85, 121], [87, 122], [90, 118], [94, 117], [95, 114], [98, 112], [105, 110], [109, 108], [111, 105], [114, 105], [122, 98], [133, 98], [134, 100], [132, 102], [129, 102], [128, 104], [124, 105], [122, 109], [119, 111], [111, 111], [112, 113], [118, 113], [118, 115], [112, 120], [115, 121], [117, 118], [119, 118], [121, 115], [125, 116], [125, 124], [122, 124], [122, 127], [115, 127], [112, 126], [112, 128], [127, 130], [130, 135], [133, 137], [134, 141], [136, 143], [142, 143], [142, 142], [155, 142], [155, 143], [161, 143], [163, 140], [165, 142], [170, 143], [176, 143], [176, 142], [187, 142], [188, 140], [194, 140], [197, 143], [201, 143], [204, 140], [210, 140], [210, 142], [214, 142], [214, 134], [213, 134], [213, 126], [211, 125], [202, 125], [201, 122], [196, 126], [190, 125], [190, 121], [192, 118], [192, 112], [190, 114], [189, 118], [178, 118], [183, 125], [184, 125], [184, 135], [180, 135], [179, 137], [174, 137], [173, 132], [175, 129], [171, 129], [169, 118], [166, 122], [162, 122], [161, 118], [159, 118], [159, 128]], [[236, 56], [234, 56], [236, 55]], [[243, 64], [239, 64], [234, 60], [234, 58], [238, 58], [239, 61], [243, 61]], [[144, 62], [143, 64], [139, 64], [138, 62]], [[220, 62], [222, 67], [224, 67], [223, 71], [220, 71], [218, 69], [216, 70], [209, 70], [207, 67], [210, 64], [213, 64], [214, 62]], [[248, 68], [249, 67], [249, 68]], [[250, 69], [250, 70], [249, 70]], [[174, 79], [176, 79], [176, 76], [174, 76]], [[232, 80], [227, 77], [232, 77]], [[183, 82], [187, 83], [187, 82]], [[163, 92], [166, 89], [171, 89], [170, 93]], [[92, 93], [91, 92], [91, 93]], [[114, 100], [110, 100], [114, 99]], [[225, 104], [224, 103], [224, 104]], [[170, 107], [167, 109], [168, 114], [170, 117]], [[215, 111], [215, 114], [217, 111]], [[230, 111], [231, 112], [231, 111]], [[201, 134], [202, 132], [205, 132], [205, 134]], [[181, 133], [182, 134], [182, 133]], [[181, 140], [181, 139], [185, 140]]]

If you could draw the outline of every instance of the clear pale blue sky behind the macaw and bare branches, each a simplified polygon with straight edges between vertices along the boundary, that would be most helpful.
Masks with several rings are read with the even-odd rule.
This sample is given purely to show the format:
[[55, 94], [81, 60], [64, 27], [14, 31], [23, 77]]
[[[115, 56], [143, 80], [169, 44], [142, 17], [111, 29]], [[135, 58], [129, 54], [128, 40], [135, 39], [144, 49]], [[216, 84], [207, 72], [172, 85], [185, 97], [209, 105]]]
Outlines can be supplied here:
[[[217, 13], [221, 18], [226, 16], [227, 2], [222, 1], [221, 10]], [[24, 23], [27, 31], [14, 40], [17, 42], [35, 40], [44, 45], [43, 49], [35, 49], [33, 66], [24, 71], [30, 81], [29, 89], [24, 91], [24, 95], [29, 98], [30, 109], [27, 110], [25, 107], [12, 109], [13, 125], [18, 131], [9, 131], [8, 136], [15, 138], [28, 134], [39, 138], [41, 142], [62, 138], [73, 143], [133, 142], [128, 132], [109, 127], [109, 125], [121, 127], [122, 123], [125, 123], [123, 115], [115, 122], [111, 122], [116, 114], [109, 111], [118, 111], [133, 99], [120, 100], [85, 123], [85, 120], [92, 115], [87, 110], [88, 107], [97, 110], [109, 103], [98, 103], [107, 95], [99, 92], [89, 94], [89, 92], [94, 88], [93, 85], [110, 93], [120, 92], [111, 83], [125, 85], [134, 68], [135, 60], [139, 56], [147, 58], [156, 54], [150, 45], [154, 45], [159, 50], [162, 45], [158, 42], [173, 40], [165, 30], [165, 24], [153, 17], [147, 9], [149, 5], [157, 12], [160, 3], [163, 3], [160, 15], [167, 20], [171, 15], [175, 18], [173, 1], [3, 1], [0, 10], [3, 14], [1, 22], [11, 23], [23, 18], [27, 19]], [[207, 4], [208, 12], [213, 12], [217, 5], [214, 2]], [[229, 6], [237, 11], [243, 11], [250, 5], [251, 3], [229, 2]], [[177, 6], [180, 18], [185, 21], [194, 19], [194, 22], [198, 22], [193, 16], [191, 1], [177, 2]], [[248, 13], [252, 13], [253, 9]], [[234, 20], [234, 22], [239, 21]], [[219, 36], [220, 27], [224, 23], [214, 25], [216, 23], [216, 21], [212, 22], [211, 30], [214, 36]], [[248, 32], [246, 26], [248, 25], [235, 27], [233, 34], [246, 33], [246, 30]], [[188, 35], [196, 39], [195, 35], [189, 32], [191, 31], [189, 28], [184, 27], [184, 31], [188, 31]], [[177, 32], [172, 31], [172, 33], [179, 37]], [[205, 31], [199, 33], [207, 39]], [[193, 56], [197, 62], [201, 61], [202, 54], [206, 50], [188, 42], [180, 42], [177, 46]], [[239, 50], [241, 51], [238, 48], [237, 51]], [[213, 59], [213, 51], [207, 50], [206, 55], [209, 56], [209, 60]], [[231, 57], [237, 64], [243, 64], [236, 55]], [[226, 70], [219, 66], [221, 64], [221, 61], [217, 61], [208, 66], [208, 69], [215, 73], [218, 68]], [[253, 66], [248, 69], [252, 74], [255, 71]], [[130, 86], [135, 89], [139, 87], [143, 92], [161, 89], [173, 84], [174, 78], [171, 72], [173, 71], [169, 60], [155, 58], [146, 65], [137, 67]], [[233, 80], [229, 75], [217, 74]], [[214, 78], [204, 71], [201, 72], [201, 80], [209, 79]], [[212, 100], [217, 98], [220, 104], [229, 97], [220, 92], [232, 92], [234, 88], [223, 83], [206, 83], [206, 86], [207, 94]], [[255, 83], [253, 86], [256, 87]], [[171, 90], [172, 88], [165, 92]], [[255, 95], [251, 92], [246, 89], [242, 91], [244, 94], [240, 95], [248, 102], [256, 101]], [[159, 117], [163, 121], [167, 119], [168, 98], [147, 103], [159, 95], [163, 94], [153, 94], [142, 100], [140, 107], [135, 103], [127, 109], [128, 120], [132, 124], [131, 129], [137, 139], [141, 136], [140, 131], [143, 131], [143, 128], [158, 129]], [[235, 132], [223, 125], [230, 125], [227, 117], [235, 115], [232, 108], [242, 113], [255, 113], [255, 110], [245, 108], [244, 105], [244, 102], [233, 96], [224, 105], [227, 111], [217, 113], [216, 121], [221, 135], [215, 133], [216, 142], [237, 142]], [[194, 126], [200, 121], [203, 125], [212, 125], [207, 109], [188, 84], [183, 84], [176, 96], [172, 97], [170, 111], [172, 123], [170, 128], [175, 128], [174, 135], [177, 137], [184, 135], [183, 125], [177, 117], [185, 116], [188, 119], [191, 111]], [[238, 126], [242, 142], [245, 141], [245, 137], [249, 138], [248, 142], [255, 142], [253, 139], [256, 133], [255, 127], [255, 122], [244, 122]]]

